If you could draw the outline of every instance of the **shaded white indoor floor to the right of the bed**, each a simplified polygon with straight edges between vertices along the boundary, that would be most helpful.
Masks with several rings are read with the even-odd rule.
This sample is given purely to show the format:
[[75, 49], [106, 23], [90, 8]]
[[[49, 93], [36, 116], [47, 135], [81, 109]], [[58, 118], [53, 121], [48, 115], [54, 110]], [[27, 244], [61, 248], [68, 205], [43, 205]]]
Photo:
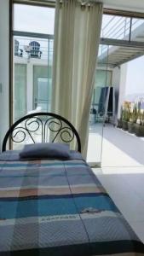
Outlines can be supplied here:
[[140, 170], [137, 167], [136, 171], [140, 171], [137, 173], [134, 173], [135, 167], [131, 173], [127, 169], [119, 167], [107, 172], [107, 168], [103, 167], [93, 170], [124, 218], [144, 242], [144, 167], [139, 167]]

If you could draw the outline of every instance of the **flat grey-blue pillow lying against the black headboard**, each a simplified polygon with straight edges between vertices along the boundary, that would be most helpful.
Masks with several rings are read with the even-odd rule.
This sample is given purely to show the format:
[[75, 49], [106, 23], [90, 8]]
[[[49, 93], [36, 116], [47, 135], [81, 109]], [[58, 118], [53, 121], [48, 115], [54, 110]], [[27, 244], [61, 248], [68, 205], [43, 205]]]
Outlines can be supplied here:
[[70, 147], [64, 143], [34, 143], [27, 144], [20, 151], [20, 159], [31, 158], [70, 158]]

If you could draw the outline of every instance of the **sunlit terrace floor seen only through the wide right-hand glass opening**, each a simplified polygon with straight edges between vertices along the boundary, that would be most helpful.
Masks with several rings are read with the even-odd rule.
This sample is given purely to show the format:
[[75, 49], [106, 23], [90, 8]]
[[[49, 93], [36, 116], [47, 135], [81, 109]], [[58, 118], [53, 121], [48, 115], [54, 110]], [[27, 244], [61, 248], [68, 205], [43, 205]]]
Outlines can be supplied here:
[[144, 138], [106, 125], [101, 163], [102, 166], [144, 166]]

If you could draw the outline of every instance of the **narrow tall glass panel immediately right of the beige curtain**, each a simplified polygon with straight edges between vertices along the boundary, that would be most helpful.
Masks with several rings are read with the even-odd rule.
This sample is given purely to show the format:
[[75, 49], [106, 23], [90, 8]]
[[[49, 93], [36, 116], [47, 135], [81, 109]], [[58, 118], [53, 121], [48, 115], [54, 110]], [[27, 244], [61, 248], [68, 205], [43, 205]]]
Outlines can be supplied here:
[[102, 52], [108, 56], [108, 46], [100, 45], [98, 65], [95, 73], [95, 88], [89, 116], [89, 143], [87, 161], [91, 166], [101, 166], [103, 126], [107, 111], [107, 88], [112, 85], [112, 72], [107, 69], [106, 58], [101, 60]]

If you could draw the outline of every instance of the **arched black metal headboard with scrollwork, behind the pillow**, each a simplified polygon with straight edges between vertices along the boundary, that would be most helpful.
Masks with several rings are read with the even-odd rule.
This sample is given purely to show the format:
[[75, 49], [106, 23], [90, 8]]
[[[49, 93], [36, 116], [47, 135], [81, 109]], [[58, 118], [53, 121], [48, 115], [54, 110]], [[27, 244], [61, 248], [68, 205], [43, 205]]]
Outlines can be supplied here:
[[72, 143], [75, 140], [78, 151], [81, 152], [80, 138], [74, 126], [60, 115], [46, 112], [27, 114], [11, 125], [3, 139], [2, 151], [6, 150], [8, 140], [24, 145], [46, 143], [48, 139], [51, 143], [58, 139], [64, 143]]

